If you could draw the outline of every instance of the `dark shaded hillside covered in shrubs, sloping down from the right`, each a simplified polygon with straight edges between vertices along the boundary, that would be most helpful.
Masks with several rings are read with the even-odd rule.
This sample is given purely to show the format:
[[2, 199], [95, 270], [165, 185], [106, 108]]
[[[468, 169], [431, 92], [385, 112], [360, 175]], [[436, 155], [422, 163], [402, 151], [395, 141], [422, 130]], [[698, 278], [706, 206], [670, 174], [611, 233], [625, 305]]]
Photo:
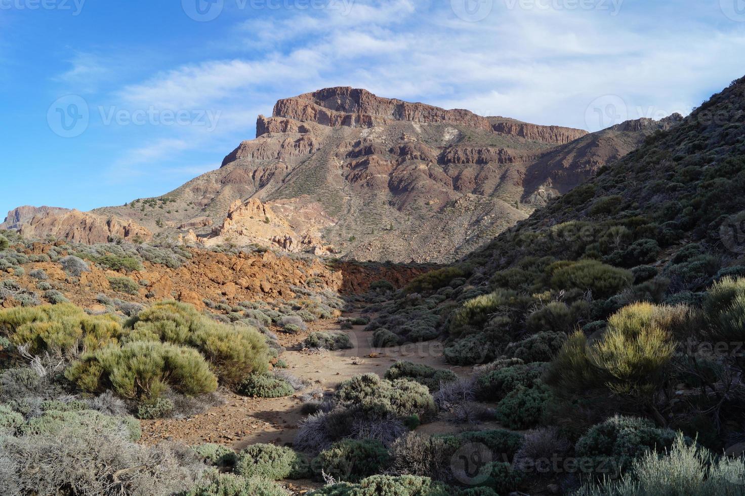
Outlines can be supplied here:
[[473, 411], [453, 412], [494, 405], [533, 429], [523, 462], [586, 462], [541, 471], [544, 489], [745, 494], [744, 184], [745, 78], [478, 252], [371, 299], [367, 329], [380, 346], [445, 340], [448, 363], [473, 367], [459, 401]]

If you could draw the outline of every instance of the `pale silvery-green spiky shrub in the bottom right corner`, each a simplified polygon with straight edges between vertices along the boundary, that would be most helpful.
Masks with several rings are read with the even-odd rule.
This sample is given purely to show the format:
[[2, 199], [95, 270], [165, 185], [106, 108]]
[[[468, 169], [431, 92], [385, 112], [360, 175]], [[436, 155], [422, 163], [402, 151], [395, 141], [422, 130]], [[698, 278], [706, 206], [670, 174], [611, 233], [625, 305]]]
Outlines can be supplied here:
[[718, 496], [745, 494], [741, 459], [714, 457], [706, 448], [678, 436], [665, 454], [649, 451], [633, 462], [629, 474], [598, 485], [588, 483], [574, 496]]

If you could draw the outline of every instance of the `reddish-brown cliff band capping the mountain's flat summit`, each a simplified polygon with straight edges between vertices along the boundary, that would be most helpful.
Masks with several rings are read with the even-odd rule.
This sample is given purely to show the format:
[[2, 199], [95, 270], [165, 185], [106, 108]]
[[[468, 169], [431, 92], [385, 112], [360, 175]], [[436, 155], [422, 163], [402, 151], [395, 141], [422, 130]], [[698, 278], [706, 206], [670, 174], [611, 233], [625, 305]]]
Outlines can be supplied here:
[[555, 144], [568, 143], [587, 134], [585, 130], [571, 127], [539, 126], [501, 117], [482, 117], [469, 110], [446, 110], [438, 106], [378, 97], [366, 89], [337, 86], [278, 101], [273, 117], [259, 116], [256, 136], [307, 132], [307, 129], [302, 130], [299, 122], [314, 122], [329, 127], [374, 127], [395, 121], [455, 124]]

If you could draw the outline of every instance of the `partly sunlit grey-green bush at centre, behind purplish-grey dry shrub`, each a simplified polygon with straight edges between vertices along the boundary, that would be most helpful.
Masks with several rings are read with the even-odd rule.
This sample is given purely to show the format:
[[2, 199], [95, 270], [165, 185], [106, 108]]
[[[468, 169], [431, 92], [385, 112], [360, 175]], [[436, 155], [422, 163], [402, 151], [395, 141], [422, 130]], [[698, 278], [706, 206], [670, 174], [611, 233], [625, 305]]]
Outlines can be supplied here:
[[355, 375], [337, 387], [335, 398], [350, 407], [361, 407], [380, 416], [418, 415], [428, 422], [437, 412], [426, 386], [407, 379], [387, 381], [377, 374]]

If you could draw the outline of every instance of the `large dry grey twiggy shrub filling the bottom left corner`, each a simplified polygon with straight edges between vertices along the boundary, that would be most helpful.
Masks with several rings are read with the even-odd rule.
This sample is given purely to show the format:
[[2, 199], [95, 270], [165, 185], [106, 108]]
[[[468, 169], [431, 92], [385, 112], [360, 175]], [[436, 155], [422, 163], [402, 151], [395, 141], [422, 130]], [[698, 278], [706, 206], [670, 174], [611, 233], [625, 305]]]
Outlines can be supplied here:
[[204, 470], [175, 445], [137, 445], [127, 428], [102, 422], [101, 414], [45, 417], [61, 420], [42, 433], [0, 440], [0, 494], [168, 496], [191, 487]]

